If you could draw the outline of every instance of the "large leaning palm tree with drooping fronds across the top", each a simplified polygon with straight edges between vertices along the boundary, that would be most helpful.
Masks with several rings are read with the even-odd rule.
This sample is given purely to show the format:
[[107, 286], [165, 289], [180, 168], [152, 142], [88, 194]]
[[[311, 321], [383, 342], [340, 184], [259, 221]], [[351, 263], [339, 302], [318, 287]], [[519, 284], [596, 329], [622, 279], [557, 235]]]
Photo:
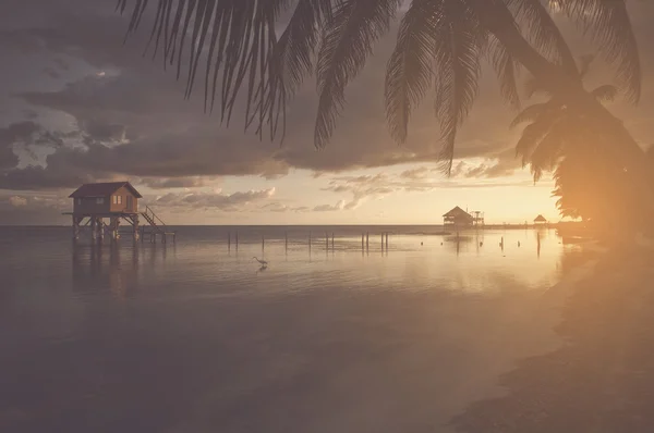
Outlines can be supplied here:
[[[134, 32], [153, 2], [132, 7]], [[400, 10], [397, 46], [388, 62], [386, 112], [392, 137], [404, 143], [412, 110], [432, 92], [444, 139], [439, 154], [451, 170], [456, 135], [477, 92], [488, 57], [501, 90], [517, 102], [516, 70], [524, 66], [567, 107], [585, 112], [620, 144], [615, 158], [643, 176], [642, 150], [627, 129], [586, 91], [552, 10], [565, 13], [596, 42], [617, 70], [629, 100], [640, 97], [641, 72], [625, 0], [158, 0], [152, 27], [154, 52], [187, 70], [186, 97], [204, 75], [205, 108], [219, 101], [229, 122], [245, 92], [246, 125], [270, 137], [286, 129], [284, 108], [313, 71], [319, 94], [314, 141], [324, 147], [344, 104], [344, 90]], [[547, 4], [546, 4], [547, 3]], [[199, 59], [208, 61], [198, 71]], [[643, 177], [641, 177], [643, 178]]]

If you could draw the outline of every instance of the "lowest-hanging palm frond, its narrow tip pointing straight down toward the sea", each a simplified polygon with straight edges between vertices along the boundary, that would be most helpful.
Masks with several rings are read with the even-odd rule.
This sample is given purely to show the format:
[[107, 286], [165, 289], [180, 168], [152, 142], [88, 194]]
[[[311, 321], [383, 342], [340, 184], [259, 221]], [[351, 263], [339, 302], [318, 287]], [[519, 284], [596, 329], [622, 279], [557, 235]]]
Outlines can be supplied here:
[[436, 24], [436, 99], [440, 123], [443, 171], [451, 174], [457, 131], [468, 116], [477, 94], [480, 57], [487, 34], [463, 0], [445, 0]]

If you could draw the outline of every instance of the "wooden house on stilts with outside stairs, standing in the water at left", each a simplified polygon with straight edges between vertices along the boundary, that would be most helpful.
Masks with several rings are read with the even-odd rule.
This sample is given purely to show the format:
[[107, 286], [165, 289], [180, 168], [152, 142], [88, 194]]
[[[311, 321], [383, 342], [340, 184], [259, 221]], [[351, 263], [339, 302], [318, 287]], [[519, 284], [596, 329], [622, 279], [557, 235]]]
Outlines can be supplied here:
[[[74, 239], [80, 238], [81, 230], [87, 226], [93, 239], [102, 239], [105, 234], [118, 239], [122, 221], [132, 226], [134, 239], [144, 240], [149, 235], [150, 242], [157, 242], [159, 235], [164, 243], [168, 236], [174, 240], [175, 233], [149, 207], [138, 210], [138, 199], [143, 196], [129, 182], [84, 184], [69, 197], [73, 199], [73, 211], [65, 214], [72, 215]], [[141, 216], [145, 220], [143, 225], [140, 225]]]

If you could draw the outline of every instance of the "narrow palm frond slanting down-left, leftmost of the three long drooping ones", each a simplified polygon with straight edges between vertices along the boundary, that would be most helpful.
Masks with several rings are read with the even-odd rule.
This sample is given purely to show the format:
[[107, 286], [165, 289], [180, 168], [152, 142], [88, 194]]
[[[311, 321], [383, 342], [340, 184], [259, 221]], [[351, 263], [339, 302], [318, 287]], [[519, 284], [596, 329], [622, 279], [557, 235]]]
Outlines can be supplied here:
[[318, 113], [314, 145], [331, 137], [348, 83], [363, 69], [377, 39], [388, 30], [400, 0], [340, 0], [326, 23], [318, 51]]

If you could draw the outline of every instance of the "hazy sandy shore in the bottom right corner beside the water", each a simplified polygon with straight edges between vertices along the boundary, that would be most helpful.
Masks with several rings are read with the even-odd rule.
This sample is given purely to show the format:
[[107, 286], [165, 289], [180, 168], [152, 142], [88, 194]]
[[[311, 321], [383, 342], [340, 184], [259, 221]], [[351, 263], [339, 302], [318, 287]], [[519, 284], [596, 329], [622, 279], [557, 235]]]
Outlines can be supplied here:
[[653, 432], [654, 252], [603, 255], [574, 284], [556, 327], [565, 345], [504, 375], [501, 397], [471, 405], [459, 432]]

